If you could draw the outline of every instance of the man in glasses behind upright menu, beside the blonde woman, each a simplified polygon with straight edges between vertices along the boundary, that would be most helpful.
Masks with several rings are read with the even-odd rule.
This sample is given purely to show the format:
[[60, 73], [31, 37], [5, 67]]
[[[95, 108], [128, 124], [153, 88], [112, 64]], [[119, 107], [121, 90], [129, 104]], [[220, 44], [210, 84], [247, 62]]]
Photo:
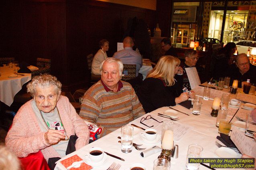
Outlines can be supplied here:
[[187, 72], [185, 68], [195, 67], [195, 64], [197, 64], [197, 61], [198, 61], [197, 51], [192, 49], [185, 51], [185, 60], [183, 60], [180, 64], [180, 67], [183, 69], [183, 88], [186, 87], [188, 90], [191, 90], [189, 78], [187, 76]]

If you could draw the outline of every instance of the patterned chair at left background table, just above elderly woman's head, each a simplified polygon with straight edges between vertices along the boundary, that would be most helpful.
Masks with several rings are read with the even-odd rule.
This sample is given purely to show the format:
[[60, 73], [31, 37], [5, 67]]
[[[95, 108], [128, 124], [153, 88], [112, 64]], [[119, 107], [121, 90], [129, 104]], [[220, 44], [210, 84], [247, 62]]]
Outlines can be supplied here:
[[37, 67], [39, 68], [39, 70], [31, 71], [32, 77], [40, 74], [50, 74], [51, 60], [46, 58], [37, 58]]

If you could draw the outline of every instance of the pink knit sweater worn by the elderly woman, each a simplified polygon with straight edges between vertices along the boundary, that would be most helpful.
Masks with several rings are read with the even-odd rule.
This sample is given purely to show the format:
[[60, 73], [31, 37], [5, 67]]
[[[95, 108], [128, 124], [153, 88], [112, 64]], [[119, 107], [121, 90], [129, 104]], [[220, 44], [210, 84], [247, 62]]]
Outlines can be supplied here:
[[[57, 107], [67, 135], [76, 134], [78, 136], [75, 144], [76, 150], [88, 144], [88, 127], [75, 112], [75, 108], [70, 104], [68, 98], [60, 96]], [[5, 139], [6, 146], [18, 157], [26, 157], [28, 154], [36, 153], [39, 150], [47, 162], [49, 158], [60, 157], [55, 149], [46, 143], [44, 134], [45, 132], [42, 132], [39, 127], [30, 100], [20, 107], [14, 117], [12, 128]]]

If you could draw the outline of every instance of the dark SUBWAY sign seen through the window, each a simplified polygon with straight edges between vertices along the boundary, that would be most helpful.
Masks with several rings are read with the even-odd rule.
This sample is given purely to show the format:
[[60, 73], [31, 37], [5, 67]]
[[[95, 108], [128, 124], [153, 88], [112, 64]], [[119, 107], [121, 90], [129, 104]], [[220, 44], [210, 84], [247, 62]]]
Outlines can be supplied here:
[[195, 22], [196, 6], [174, 6], [173, 22]]

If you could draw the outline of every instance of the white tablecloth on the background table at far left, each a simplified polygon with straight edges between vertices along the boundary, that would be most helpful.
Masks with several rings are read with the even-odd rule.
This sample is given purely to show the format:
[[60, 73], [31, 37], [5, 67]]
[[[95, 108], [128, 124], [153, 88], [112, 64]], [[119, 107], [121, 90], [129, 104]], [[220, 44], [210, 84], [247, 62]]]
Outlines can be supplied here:
[[31, 80], [31, 74], [18, 75], [15, 78], [8, 78], [13, 74], [13, 69], [8, 66], [0, 67], [0, 100], [10, 106], [14, 96], [21, 90], [22, 85]]

